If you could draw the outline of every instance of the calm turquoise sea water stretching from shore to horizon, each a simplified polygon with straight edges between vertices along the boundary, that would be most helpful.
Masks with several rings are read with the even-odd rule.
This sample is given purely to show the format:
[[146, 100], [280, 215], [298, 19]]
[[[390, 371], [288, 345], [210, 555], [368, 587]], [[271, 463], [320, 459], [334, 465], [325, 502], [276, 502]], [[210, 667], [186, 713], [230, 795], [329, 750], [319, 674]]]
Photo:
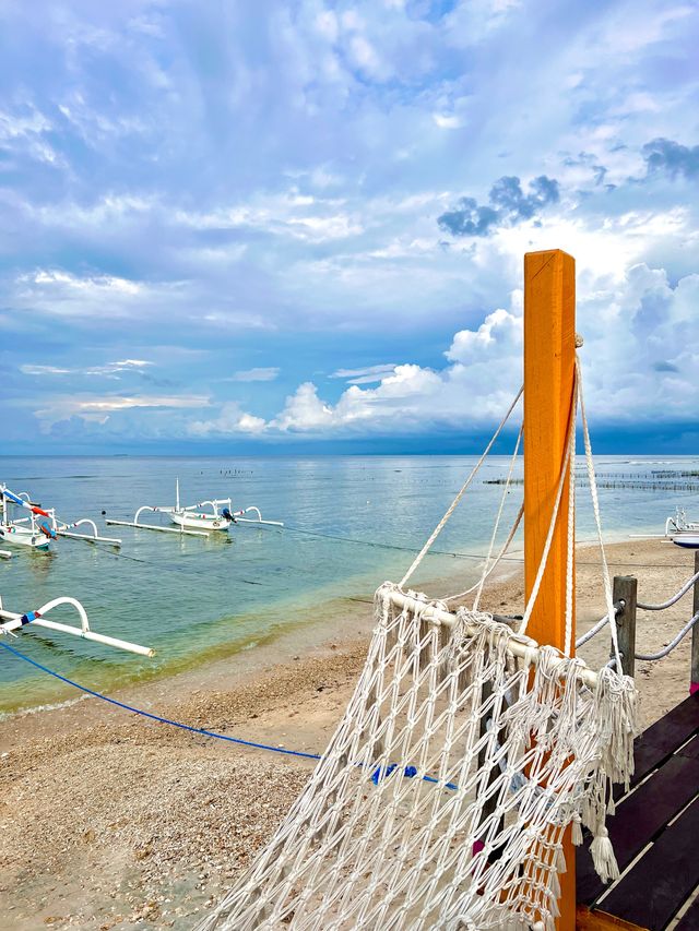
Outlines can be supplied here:
[[[343, 611], [357, 610], [348, 599], [370, 597], [384, 578], [401, 577], [474, 463], [469, 456], [2, 457], [0, 480], [13, 491], [28, 491], [66, 521], [92, 517], [103, 533], [122, 539], [120, 551], [68, 539], [54, 544], [48, 554], [13, 549], [11, 560], [0, 561], [4, 607], [26, 611], [71, 595], [85, 606], [94, 630], [157, 653], [143, 659], [48, 631], [8, 642], [63, 675], [109, 689], [254, 648], [311, 613], [325, 612], [341, 624]], [[660, 530], [676, 505], [699, 515], [697, 479], [683, 477], [699, 469], [699, 459], [615, 456], [601, 457], [597, 465], [603, 484], [614, 485], [618, 477], [617, 487], [601, 489], [609, 539]], [[458, 590], [475, 578], [477, 560], [466, 557], [487, 547], [502, 492], [487, 482], [507, 468], [506, 457], [486, 464], [436, 544], [441, 554], [423, 563], [417, 584], [454, 577]], [[521, 464], [518, 469], [521, 476]], [[676, 486], [671, 491], [665, 473]], [[234, 508], [256, 504], [264, 517], [286, 526], [238, 525], [205, 539], [105, 527], [103, 511], [132, 520], [142, 504], [174, 503], [176, 478], [186, 503], [230, 496]], [[521, 491], [514, 487], [509, 497], [505, 533]], [[164, 518], [144, 514], [142, 520]], [[579, 538], [592, 529], [581, 489]], [[51, 617], [74, 621], [70, 609]], [[0, 655], [0, 712], [69, 694], [55, 680]]]

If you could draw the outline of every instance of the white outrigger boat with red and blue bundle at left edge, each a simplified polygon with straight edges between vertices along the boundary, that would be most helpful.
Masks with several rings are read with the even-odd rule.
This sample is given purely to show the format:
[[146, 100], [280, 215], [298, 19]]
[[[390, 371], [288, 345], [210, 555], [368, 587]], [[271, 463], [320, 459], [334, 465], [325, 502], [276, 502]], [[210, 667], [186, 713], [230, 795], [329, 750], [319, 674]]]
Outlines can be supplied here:
[[[10, 518], [11, 508], [22, 508], [29, 511], [27, 517]], [[44, 520], [42, 520], [44, 518]], [[76, 534], [74, 528], [83, 525], [92, 528], [90, 534]], [[35, 550], [46, 552], [51, 540], [58, 537], [70, 537], [74, 540], [87, 540], [87, 542], [104, 542], [112, 547], [120, 547], [121, 540], [115, 537], [103, 537], [97, 530], [94, 521], [83, 517], [72, 524], [68, 524], [56, 516], [52, 508], [44, 509], [32, 501], [26, 491], [15, 494], [5, 485], [0, 485], [0, 540], [17, 546], [32, 547]], [[5, 550], [0, 551], [7, 552]], [[10, 556], [12, 553], [9, 553]]]

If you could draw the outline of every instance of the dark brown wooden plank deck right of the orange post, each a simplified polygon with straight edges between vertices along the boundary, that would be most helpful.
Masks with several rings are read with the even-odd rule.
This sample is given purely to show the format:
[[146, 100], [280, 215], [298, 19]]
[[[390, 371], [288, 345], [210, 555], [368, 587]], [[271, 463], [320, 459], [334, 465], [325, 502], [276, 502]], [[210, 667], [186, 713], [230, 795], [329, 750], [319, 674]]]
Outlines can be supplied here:
[[621, 878], [604, 885], [578, 850], [577, 928], [699, 931], [699, 693], [644, 731], [635, 756], [607, 820]]

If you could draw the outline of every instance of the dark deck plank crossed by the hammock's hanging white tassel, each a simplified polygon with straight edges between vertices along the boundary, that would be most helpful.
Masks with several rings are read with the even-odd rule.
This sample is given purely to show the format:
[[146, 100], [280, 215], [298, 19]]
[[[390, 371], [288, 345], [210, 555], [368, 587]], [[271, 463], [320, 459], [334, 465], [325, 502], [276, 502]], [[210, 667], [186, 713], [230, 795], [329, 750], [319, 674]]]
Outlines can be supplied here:
[[[673, 756], [607, 820], [609, 839], [620, 870], [662, 833], [699, 791], [699, 760]], [[624, 880], [621, 880], [624, 882]], [[607, 891], [592, 864], [589, 847], [578, 850], [578, 902], [594, 905]], [[606, 906], [606, 902], [605, 902]]]

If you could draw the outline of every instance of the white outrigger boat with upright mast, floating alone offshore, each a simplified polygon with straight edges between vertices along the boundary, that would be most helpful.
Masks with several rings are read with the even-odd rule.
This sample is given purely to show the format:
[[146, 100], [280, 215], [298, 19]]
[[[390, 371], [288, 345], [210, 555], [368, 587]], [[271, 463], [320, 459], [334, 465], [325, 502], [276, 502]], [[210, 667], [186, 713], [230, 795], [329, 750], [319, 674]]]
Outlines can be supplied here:
[[[139, 520], [144, 511], [156, 514], [167, 514], [175, 527], [163, 527], [157, 524], [144, 524]], [[246, 514], [257, 514], [257, 517], [246, 517]], [[240, 511], [233, 511], [230, 498], [212, 498], [198, 504], [183, 505], [179, 500], [179, 479], [175, 485], [175, 504], [153, 506], [144, 504], [135, 512], [133, 521], [115, 521], [105, 518], [105, 524], [117, 524], [122, 527], [139, 527], [142, 530], [159, 530], [165, 534], [187, 534], [194, 537], [208, 537], [215, 530], [227, 530], [232, 524], [264, 524], [272, 527], [283, 527], [281, 521], [264, 521], [260, 509], [254, 505]]]

